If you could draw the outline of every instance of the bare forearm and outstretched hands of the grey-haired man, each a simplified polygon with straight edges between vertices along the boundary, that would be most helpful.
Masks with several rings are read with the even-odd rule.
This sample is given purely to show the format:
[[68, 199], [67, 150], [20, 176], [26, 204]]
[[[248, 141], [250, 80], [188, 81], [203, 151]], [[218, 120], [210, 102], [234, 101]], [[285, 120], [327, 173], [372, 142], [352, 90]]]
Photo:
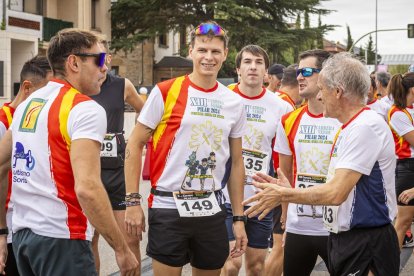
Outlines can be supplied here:
[[260, 193], [245, 200], [243, 204], [257, 201], [245, 213], [249, 217], [261, 213], [262, 219], [275, 206], [281, 202], [292, 202], [307, 205], [340, 205], [346, 200], [353, 187], [357, 184], [362, 174], [350, 169], [337, 169], [334, 178], [325, 185], [318, 185], [307, 189], [291, 189], [289, 181], [278, 170], [278, 184], [253, 182], [254, 185], [263, 189]]

